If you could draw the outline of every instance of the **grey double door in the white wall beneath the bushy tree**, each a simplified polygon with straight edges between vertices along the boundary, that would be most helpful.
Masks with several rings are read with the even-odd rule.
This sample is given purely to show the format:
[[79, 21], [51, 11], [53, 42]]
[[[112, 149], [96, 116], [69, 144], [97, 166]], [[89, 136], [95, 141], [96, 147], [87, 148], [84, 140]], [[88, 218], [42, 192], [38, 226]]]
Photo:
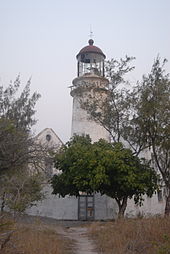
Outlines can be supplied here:
[[94, 195], [79, 196], [78, 220], [94, 220]]

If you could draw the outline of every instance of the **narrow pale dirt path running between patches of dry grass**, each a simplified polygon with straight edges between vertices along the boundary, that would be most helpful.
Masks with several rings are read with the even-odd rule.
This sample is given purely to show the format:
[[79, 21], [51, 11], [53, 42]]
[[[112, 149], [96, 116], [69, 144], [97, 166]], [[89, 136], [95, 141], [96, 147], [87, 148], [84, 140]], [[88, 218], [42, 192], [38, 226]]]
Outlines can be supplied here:
[[72, 251], [75, 254], [98, 254], [94, 241], [87, 235], [87, 230], [86, 227], [70, 227], [63, 230], [64, 237], [73, 241]]

